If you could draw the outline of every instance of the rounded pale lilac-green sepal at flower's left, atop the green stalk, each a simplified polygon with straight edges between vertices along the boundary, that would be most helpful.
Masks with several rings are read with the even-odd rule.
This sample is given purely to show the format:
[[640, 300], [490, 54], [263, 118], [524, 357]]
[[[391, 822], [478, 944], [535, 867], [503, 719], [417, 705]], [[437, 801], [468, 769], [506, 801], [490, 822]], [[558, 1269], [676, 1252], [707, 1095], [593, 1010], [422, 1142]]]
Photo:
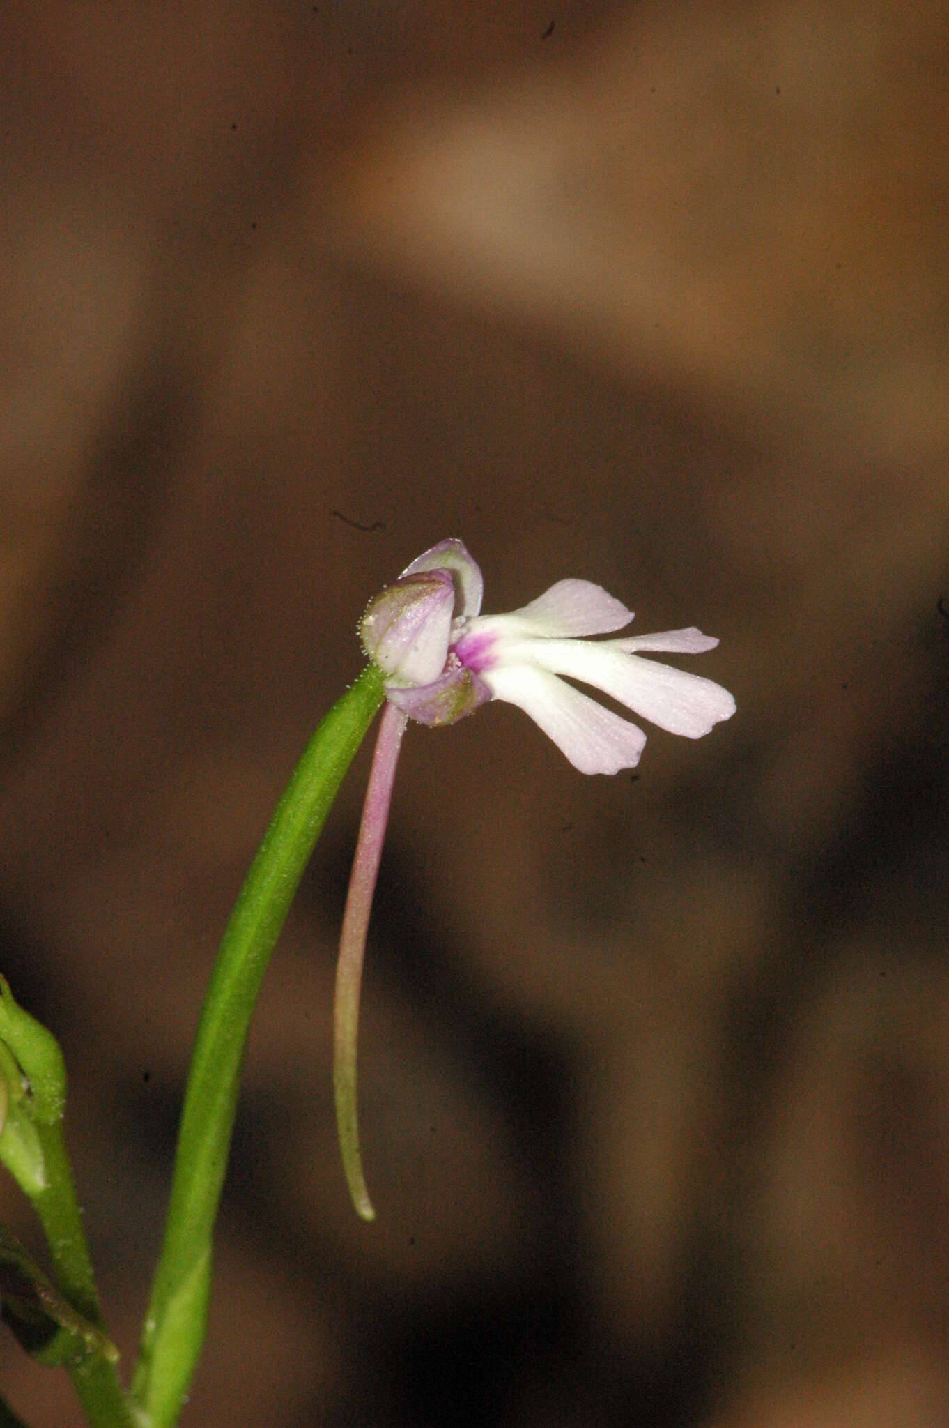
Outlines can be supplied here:
[[367, 605], [362, 647], [387, 681], [432, 684], [448, 658], [454, 608], [455, 587], [447, 570], [402, 575]]

